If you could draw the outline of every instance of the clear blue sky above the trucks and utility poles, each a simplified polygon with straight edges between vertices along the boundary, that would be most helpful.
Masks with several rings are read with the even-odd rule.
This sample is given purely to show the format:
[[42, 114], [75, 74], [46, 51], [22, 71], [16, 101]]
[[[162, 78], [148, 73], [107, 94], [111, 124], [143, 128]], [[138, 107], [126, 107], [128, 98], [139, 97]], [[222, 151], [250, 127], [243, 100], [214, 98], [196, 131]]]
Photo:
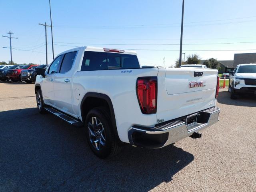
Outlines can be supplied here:
[[[165, 57], [166, 66], [170, 66], [179, 57], [182, 0], [51, 3], [55, 56], [72, 46], [98, 46], [135, 49], [143, 65], [163, 65]], [[44, 27], [38, 22], [50, 25], [48, 0], [0, 1], [0, 7], [0, 61], [10, 60], [10, 49], [2, 48], [9, 47], [8, 38], [2, 35], [10, 30], [18, 37], [12, 40], [14, 62], [44, 64]], [[218, 60], [233, 60], [234, 53], [256, 52], [255, 7], [255, 0], [185, 0], [183, 52]], [[47, 32], [51, 62], [50, 28]]]

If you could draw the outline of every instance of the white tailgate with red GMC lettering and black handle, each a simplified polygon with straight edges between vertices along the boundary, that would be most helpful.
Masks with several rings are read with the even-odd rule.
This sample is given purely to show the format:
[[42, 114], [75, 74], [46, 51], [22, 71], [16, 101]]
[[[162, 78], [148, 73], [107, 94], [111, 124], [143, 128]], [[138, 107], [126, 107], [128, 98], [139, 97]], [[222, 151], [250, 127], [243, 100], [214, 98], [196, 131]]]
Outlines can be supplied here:
[[[202, 76], [195, 72], [202, 72]], [[217, 74], [217, 70], [204, 68], [160, 69], [156, 122], [215, 106]]]

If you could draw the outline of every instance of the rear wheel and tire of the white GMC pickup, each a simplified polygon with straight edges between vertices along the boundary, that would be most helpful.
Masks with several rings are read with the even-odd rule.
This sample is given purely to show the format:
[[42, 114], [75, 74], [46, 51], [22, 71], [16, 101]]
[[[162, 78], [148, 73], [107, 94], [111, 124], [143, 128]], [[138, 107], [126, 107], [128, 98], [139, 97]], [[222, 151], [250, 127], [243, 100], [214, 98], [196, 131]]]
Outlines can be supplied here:
[[110, 116], [103, 107], [93, 108], [86, 116], [86, 139], [92, 152], [99, 158], [115, 156], [121, 150], [114, 138], [111, 125]]

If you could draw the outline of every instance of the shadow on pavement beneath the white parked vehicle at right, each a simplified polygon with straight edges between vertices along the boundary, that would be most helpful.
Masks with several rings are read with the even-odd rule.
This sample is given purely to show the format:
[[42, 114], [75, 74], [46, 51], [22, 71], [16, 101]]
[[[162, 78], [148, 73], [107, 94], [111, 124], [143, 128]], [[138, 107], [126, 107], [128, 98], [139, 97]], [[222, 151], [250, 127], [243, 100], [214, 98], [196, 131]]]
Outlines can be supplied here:
[[246, 107], [256, 107], [256, 97], [255, 96], [239, 96], [237, 99], [230, 99], [230, 92], [220, 91], [218, 98], [218, 102], [226, 105], [235, 105], [235, 106], [246, 106]]

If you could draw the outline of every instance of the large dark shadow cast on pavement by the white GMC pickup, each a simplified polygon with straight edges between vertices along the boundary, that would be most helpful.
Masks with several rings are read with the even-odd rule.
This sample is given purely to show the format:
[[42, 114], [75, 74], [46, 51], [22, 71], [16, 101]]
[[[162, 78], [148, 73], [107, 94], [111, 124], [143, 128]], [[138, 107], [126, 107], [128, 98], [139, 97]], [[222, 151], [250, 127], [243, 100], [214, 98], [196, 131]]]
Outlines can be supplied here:
[[148, 191], [194, 160], [176, 146], [127, 145], [99, 159], [73, 127], [37, 108], [0, 112], [0, 191]]

